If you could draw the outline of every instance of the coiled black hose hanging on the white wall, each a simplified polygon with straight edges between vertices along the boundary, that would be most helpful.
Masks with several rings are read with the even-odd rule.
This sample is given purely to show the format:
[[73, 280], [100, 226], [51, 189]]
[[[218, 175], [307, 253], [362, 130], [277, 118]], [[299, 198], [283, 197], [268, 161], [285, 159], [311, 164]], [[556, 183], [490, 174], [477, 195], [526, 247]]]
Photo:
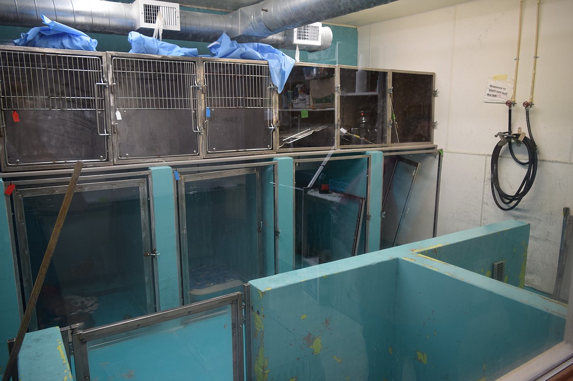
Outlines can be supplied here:
[[[511, 117], [511, 116], [510, 116]], [[492, 153], [492, 178], [491, 178], [491, 186], [492, 186], [492, 195], [493, 201], [495, 201], [497, 207], [501, 210], [512, 210], [515, 208], [521, 200], [525, 197], [525, 195], [529, 192], [531, 187], [533, 186], [533, 181], [535, 180], [535, 175], [537, 174], [537, 145], [533, 140], [533, 136], [531, 135], [531, 125], [529, 124], [529, 107], [525, 107], [525, 120], [527, 121], [527, 130], [529, 132], [528, 138], [525, 136], [523, 138], [523, 143], [527, 148], [528, 160], [523, 162], [516, 158], [515, 154], [513, 153], [513, 141], [519, 142], [520, 134], [519, 133], [508, 133], [503, 134], [505, 136], [504, 139], [501, 139], [496, 146], [493, 148]], [[511, 130], [509, 131], [511, 132]], [[521, 182], [519, 188], [514, 194], [505, 193], [499, 183], [499, 175], [497, 168], [499, 166], [499, 156], [501, 149], [508, 144], [509, 152], [513, 160], [516, 163], [521, 164], [522, 166], [527, 166], [527, 172], [525, 172], [525, 176], [523, 181]], [[497, 196], [496, 196], [497, 192]], [[498, 198], [499, 197], [499, 201]], [[502, 205], [503, 204], [503, 205]]]

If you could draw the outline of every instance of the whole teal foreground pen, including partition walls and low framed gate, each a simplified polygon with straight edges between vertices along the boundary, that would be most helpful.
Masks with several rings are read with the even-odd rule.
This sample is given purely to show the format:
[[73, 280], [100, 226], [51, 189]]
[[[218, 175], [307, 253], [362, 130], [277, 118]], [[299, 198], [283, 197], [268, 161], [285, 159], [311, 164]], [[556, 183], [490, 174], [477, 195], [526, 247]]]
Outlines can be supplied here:
[[[91, 380], [493, 380], [563, 340], [566, 306], [516, 286], [528, 234], [529, 225], [505, 221], [72, 331], [72, 372]], [[498, 262], [501, 281], [485, 276]], [[50, 367], [30, 366], [26, 351], [58, 351], [48, 331], [26, 337], [19, 367], [31, 371], [22, 381], [68, 366], [61, 353]]]

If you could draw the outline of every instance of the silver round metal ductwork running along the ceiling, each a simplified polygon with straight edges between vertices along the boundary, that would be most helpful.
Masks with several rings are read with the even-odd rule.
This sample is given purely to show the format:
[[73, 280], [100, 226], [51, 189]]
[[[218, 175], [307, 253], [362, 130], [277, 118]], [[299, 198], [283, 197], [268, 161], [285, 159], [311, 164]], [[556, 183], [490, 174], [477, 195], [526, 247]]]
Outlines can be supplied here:
[[[259, 41], [277, 48], [294, 49], [292, 29], [396, 0], [266, 0], [228, 14], [180, 11], [180, 31], [164, 30], [164, 38], [213, 42], [224, 32], [239, 42]], [[0, 0], [0, 25], [33, 27], [40, 16], [82, 30], [127, 35], [136, 30], [138, 9], [133, 3], [104, 0]], [[320, 46], [301, 50], [324, 50], [332, 42], [332, 30], [323, 27]]]

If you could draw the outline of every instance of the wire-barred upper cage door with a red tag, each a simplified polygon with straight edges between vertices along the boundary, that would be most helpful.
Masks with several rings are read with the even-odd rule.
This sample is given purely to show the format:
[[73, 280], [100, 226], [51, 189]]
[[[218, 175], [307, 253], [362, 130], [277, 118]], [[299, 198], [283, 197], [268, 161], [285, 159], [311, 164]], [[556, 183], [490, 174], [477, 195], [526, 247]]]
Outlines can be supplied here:
[[107, 162], [103, 57], [0, 50], [3, 169]]

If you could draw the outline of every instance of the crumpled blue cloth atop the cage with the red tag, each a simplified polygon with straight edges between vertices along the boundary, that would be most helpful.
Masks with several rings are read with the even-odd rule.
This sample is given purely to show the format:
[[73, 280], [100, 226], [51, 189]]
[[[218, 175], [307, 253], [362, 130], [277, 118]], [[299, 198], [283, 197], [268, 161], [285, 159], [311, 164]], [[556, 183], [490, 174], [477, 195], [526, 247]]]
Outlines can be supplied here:
[[42, 22], [48, 26], [36, 26], [28, 33], [22, 33], [22, 37], [14, 40], [14, 44], [36, 48], [96, 51], [97, 40], [77, 29], [52, 21], [43, 14], [41, 17]]

